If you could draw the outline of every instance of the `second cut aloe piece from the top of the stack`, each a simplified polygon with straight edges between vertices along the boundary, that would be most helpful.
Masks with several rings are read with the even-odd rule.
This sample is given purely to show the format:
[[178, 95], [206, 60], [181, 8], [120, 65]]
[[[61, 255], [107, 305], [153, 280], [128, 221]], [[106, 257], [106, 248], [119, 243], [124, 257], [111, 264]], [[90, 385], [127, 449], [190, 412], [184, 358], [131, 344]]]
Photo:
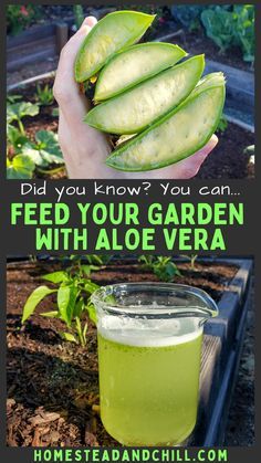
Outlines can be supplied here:
[[118, 95], [173, 66], [186, 55], [182, 49], [171, 43], [153, 42], [133, 45], [113, 56], [101, 71], [94, 99], [101, 102]]

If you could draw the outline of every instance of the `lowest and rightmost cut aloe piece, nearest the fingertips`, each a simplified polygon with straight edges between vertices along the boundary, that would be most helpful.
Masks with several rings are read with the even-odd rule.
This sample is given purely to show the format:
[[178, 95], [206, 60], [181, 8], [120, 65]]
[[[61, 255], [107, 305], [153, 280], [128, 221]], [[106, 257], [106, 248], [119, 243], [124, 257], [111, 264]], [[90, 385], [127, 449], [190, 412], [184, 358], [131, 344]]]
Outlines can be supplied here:
[[217, 128], [225, 103], [225, 78], [203, 78], [189, 97], [144, 133], [119, 146], [106, 160], [118, 170], [145, 171], [194, 155]]

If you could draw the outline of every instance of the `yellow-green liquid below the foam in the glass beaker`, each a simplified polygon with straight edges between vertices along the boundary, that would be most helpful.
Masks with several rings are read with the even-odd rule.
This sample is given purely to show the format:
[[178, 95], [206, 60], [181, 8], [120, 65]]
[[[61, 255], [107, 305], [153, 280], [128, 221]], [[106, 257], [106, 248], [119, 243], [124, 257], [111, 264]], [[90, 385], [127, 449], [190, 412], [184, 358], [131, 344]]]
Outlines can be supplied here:
[[125, 445], [175, 445], [197, 419], [202, 334], [171, 346], [139, 347], [98, 335], [101, 415]]

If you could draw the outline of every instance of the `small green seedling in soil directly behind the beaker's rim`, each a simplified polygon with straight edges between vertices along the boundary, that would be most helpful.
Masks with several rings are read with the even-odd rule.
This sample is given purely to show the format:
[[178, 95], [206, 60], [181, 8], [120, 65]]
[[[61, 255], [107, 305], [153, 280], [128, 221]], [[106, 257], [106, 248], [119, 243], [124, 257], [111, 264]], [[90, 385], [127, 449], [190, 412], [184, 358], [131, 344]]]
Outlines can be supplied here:
[[176, 276], [180, 276], [180, 272], [171, 257], [140, 255], [138, 262], [143, 270], [153, 272], [161, 282], [173, 282]]

